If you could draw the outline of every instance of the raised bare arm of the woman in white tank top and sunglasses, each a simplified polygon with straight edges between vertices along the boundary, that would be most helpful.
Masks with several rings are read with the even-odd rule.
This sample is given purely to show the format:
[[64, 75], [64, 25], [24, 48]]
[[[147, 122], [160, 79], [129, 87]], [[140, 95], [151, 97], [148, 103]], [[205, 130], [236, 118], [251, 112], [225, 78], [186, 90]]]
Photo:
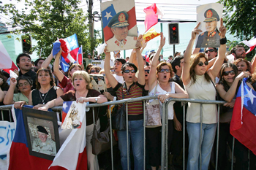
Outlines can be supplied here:
[[161, 33], [160, 34], [160, 45], [158, 47], [157, 53], [154, 55], [152, 62], [151, 62], [151, 68], [150, 72], [148, 74], [148, 85], [149, 90], [154, 87], [154, 85], [157, 85], [157, 77], [156, 77], [156, 71], [157, 71], [157, 61], [159, 60], [159, 54], [161, 53], [162, 47], [165, 46], [165, 37]]

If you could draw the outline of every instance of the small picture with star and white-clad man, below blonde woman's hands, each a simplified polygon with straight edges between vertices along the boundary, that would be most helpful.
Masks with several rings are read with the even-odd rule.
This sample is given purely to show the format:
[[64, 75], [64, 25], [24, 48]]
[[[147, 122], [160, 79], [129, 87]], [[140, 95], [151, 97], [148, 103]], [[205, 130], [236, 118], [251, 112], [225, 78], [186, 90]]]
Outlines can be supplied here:
[[86, 103], [64, 101], [62, 107], [62, 129], [81, 128], [83, 117], [86, 115]]

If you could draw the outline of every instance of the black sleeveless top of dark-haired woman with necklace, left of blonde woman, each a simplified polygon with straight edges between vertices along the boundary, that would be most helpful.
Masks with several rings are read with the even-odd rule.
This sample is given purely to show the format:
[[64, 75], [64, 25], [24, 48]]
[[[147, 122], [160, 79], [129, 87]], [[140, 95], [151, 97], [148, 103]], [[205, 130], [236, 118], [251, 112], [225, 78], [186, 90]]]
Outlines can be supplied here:
[[56, 86], [53, 86], [52, 88], [50, 88], [48, 93], [39, 93], [39, 90], [34, 89], [32, 91], [33, 106], [35, 106], [37, 104], [43, 104], [43, 103], [47, 104], [48, 101], [51, 101], [51, 100], [57, 98], [56, 90], [57, 90]]

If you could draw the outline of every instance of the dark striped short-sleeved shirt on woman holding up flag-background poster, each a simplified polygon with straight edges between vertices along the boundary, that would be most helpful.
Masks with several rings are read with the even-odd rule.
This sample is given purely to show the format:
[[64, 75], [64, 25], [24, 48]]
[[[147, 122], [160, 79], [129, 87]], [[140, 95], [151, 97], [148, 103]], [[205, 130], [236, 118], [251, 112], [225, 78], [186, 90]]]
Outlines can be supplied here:
[[[125, 82], [124, 82], [125, 83]], [[140, 85], [138, 82], [133, 82], [127, 90], [124, 85], [119, 83], [113, 90], [116, 91], [118, 100], [122, 100], [122, 91], [124, 93], [124, 98], [138, 98], [143, 94], [144, 85]], [[122, 104], [118, 104], [118, 109], [122, 107]], [[143, 103], [142, 101], [133, 101], [128, 104], [128, 115], [141, 115], [143, 114]]]

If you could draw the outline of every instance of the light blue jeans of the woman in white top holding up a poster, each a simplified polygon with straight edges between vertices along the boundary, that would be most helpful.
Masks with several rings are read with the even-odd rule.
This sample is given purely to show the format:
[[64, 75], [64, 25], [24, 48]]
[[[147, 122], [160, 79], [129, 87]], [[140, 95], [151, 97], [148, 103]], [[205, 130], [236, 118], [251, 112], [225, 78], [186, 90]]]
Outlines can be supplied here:
[[[202, 170], [208, 170], [216, 128], [217, 123], [203, 123], [202, 125]], [[189, 135], [189, 158], [187, 161], [187, 170], [197, 170], [200, 169], [200, 123], [187, 122], [187, 134]]]

